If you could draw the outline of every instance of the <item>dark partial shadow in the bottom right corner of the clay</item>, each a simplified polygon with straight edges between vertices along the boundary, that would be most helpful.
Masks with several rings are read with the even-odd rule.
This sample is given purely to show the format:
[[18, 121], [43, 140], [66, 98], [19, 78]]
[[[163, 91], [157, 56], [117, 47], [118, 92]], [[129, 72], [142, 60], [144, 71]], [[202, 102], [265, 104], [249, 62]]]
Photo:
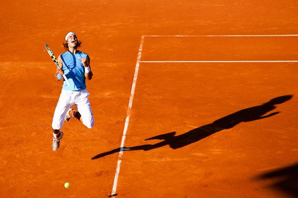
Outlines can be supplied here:
[[264, 173], [258, 176], [261, 180], [274, 180], [270, 188], [286, 193], [290, 198], [298, 197], [298, 163]]

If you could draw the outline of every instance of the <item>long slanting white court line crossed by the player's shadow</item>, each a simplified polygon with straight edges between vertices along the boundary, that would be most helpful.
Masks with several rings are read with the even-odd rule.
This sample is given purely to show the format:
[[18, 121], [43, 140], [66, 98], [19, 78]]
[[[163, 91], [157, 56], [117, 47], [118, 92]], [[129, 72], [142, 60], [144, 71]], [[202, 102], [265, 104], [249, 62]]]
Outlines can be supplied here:
[[119, 156], [118, 156], [118, 162], [117, 162], [117, 168], [116, 168], [116, 173], [115, 173], [115, 178], [114, 178], [113, 190], [112, 190], [112, 193], [111, 193], [112, 198], [115, 198], [115, 196], [116, 196], [118, 177], [119, 177], [119, 173], [120, 173], [120, 167], [121, 167], [123, 150], [124, 150], [124, 143], [125, 143], [126, 133], [127, 133], [128, 124], [129, 124], [130, 112], [131, 112], [131, 108], [133, 106], [133, 100], [134, 100], [136, 83], [137, 83], [137, 78], [138, 78], [138, 73], [139, 73], [140, 62], [141, 62], [144, 38], [145, 38], [144, 36], [141, 37], [141, 43], [140, 43], [138, 59], [137, 59], [137, 64], [136, 64], [136, 69], [135, 69], [135, 75], [134, 75], [131, 95], [130, 95], [130, 98], [129, 98], [128, 108], [127, 108], [127, 113], [126, 113], [127, 116], [126, 116], [126, 119], [125, 119], [125, 125], [124, 125], [124, 130], [123, 130], [123, 135], [122, 135], [121, 147], [120, 147]]

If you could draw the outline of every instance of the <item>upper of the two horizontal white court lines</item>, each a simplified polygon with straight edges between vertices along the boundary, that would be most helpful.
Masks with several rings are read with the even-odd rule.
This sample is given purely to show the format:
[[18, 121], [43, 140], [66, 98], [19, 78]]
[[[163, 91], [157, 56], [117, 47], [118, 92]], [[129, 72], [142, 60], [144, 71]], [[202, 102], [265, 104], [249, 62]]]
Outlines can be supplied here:
[[280, 35], [146, 35], [145, 37], [298, 37], [298, 34], [280, 34]]

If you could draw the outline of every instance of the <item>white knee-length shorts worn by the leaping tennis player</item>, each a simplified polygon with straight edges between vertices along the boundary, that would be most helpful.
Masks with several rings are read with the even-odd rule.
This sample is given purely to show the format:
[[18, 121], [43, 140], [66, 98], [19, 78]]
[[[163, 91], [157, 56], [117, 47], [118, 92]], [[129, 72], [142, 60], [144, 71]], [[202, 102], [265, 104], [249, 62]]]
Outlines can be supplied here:
[[53, 129], [60, 130], [62, 128], [65, 121], [65, 115], [68, 109], [74, 104], [81, 115], [83, 124], [91, 129], [94, 125], [94, 119], [90, 101], [88, 99], [89, 95], [87, 90], [62, 90], [53, 117]]

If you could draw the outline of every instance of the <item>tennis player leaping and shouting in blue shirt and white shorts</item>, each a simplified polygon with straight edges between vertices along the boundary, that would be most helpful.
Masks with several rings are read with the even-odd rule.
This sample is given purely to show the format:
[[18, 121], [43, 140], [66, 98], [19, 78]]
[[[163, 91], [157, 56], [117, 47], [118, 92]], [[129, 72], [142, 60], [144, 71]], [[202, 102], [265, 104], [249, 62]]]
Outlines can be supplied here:
[[[93, 73], [90, 68], [90, 57], [88, 54], [77, 50], [81, 42], [77, 40], [74, 32], [69, 32], [65, 37], [64, 47], [66, 52], [57, 58], [62, 69], [57, 68], [58, 80], [62, 80], [65, 74], [71, 83], [70, 86], [64, 80], [60, 98], [58, 100], [52, 122], [53, 128], [53, 150], [57, 150], [63, 137], [60, 131], [65, 121], [77, 118], [86, 127], [91, 129], [94, 125], [93, 114], [88, 99], [85, 80], [91, 80]], [[75, 105], [77, 110], [72, 106]]]

